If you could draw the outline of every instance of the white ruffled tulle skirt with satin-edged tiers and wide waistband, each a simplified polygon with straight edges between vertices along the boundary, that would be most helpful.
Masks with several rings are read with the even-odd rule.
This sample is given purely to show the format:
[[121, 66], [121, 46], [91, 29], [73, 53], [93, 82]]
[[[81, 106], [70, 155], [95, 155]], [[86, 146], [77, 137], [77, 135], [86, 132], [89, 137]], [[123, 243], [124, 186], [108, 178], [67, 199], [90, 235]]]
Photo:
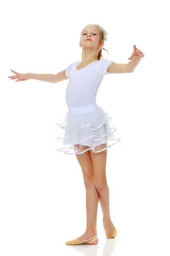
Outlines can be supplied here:
[[113, 135], [116, 128], [111, 117], [96, 102], [83, 107], [68, 107], [63, 122], [57, 125], [62, 137], [56, 139], [62, 141], [64, 148], [56, 150], [64, 154], [82, 154], [90, 149], [97, 153], [120, 141]]

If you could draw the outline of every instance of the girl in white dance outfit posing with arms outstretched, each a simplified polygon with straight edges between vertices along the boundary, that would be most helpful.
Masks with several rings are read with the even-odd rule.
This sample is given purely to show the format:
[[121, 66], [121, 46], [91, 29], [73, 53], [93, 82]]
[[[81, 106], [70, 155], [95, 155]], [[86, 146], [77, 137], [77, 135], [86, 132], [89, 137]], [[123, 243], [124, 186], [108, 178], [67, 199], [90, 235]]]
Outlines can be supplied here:
[[[69, 78], [66, 90], [68, 112], [63, 123], [57, 125], [64, 131], [64, 148], [57, 151], [76, 154], [82, 169], [86, 189], [87, 224], [85, 233], [66, 244], [97, 244], [96, 217], [100, 201], [103, 212], [103, 227], [108, 238], [117, 234], [110, 217], [109, 188], [106, 179], [107, 148], [120, 141], [111, 117], [96, 104], [96, 93], [103, 77], [111, 73], [131, 73], [144, 54], [134, 45], [128, 64], [116, 64], [102, 58], [102, 48], [108, 33], [99, 24], [90, 24], [82, 29], [79, 45], [82, 61], [74, 61], [65, 70], [53, 74], [17, 73], [8, 78], [17, 81], [37, 79], [57, 83]], [[103, 48], [104, 49], [104, 48]], [[134, 58], [137, 57], [137, 58]], [[112, 144], [109, 141], [113, 141]], [[68, 147], [68, 145], [70, 145]], [[68, 150], [67, 150], [68, 149]], [[68, 153], [69, 151], [73, 151]]]

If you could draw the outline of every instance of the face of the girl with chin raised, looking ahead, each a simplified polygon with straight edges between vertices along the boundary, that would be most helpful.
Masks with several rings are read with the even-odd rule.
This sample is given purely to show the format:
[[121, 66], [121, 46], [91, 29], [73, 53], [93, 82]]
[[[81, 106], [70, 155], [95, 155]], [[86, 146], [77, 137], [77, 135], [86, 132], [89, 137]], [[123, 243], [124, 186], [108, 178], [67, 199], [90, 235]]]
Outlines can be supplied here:
[[[88, 25], [86, 26], [81, 34], [80, 38], [80, 46], [89, 49], [89, 48], [95, 48], [97, 49], [100, 45], [100, 29], [98, 26], [95, 25]], [[87, 40], [87, 39], [91, 39]]]

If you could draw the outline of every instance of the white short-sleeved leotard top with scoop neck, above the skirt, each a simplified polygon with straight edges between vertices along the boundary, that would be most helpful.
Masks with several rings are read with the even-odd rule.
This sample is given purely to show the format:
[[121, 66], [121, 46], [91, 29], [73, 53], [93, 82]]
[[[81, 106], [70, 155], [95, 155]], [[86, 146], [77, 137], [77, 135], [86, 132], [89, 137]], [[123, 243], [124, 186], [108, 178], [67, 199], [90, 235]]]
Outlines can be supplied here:
[[65, 94], [67, 106], [82, 107], [94, 103], [103, 77], [111, 74], [107, 70], [112, 62], [101, 59], [91, 62], [80, 70], [76, 69], [79, 61], [71, 63], [65, 70], [66, 76], [69, 77]]

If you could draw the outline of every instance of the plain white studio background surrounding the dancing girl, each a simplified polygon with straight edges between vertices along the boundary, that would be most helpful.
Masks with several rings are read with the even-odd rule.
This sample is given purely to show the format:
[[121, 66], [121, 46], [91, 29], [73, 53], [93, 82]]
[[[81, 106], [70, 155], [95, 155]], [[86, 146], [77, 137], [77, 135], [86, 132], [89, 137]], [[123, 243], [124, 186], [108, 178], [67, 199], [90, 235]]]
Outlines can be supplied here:
[[[167, 1], [15, 0], [0, 7], [0, 254], [170, 255]], [[145, 56], [133, 73], [105, 76], [96, 98], [121, 139], [107, 157], [118, 234], [106, 239], [99, 204], [98, 245], [71, 247], [65, 241], [85, 232], [86, 210], [76, 156], [56, 151], [68, 80], [15, 83], [8, 76], [11, 69], [56, 74], [81, 61], [80, 32], [94, 23], [108, 32], [103, 58], [128, 63], [133, 44]]]

